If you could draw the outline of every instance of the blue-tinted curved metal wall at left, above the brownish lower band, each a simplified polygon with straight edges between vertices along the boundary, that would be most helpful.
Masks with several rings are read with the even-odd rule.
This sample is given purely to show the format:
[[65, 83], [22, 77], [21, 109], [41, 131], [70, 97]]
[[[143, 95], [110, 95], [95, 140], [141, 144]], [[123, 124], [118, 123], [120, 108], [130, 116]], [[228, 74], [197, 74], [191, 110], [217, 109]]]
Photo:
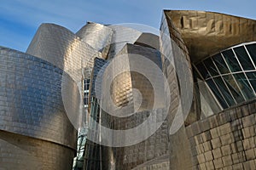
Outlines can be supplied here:
[[[0, 129], [74, 148], [76, 130], [61, 97], [64, 72], [9, 48], [0, 48], [0, 59]], [[70, 77], [65, 83], [75, 84]]]

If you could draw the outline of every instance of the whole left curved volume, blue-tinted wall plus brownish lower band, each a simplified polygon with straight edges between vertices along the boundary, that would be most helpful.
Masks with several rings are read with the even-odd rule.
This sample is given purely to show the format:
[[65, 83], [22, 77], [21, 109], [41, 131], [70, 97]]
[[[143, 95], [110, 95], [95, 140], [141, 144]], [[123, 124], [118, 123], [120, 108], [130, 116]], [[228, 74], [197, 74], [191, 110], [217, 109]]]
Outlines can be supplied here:
[[70, 169], [76, 130], [61, 99], [65, 73], [9, 48], [0, 48], [0, 58], [1, 167]]

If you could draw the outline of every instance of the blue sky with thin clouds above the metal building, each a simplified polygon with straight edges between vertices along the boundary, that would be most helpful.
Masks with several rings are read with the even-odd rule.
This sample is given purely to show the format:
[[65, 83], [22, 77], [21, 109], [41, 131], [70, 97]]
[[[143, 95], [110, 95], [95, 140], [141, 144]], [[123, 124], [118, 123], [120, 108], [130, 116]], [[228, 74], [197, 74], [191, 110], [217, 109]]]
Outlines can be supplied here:
[[0, 46], [25, 52], [41, 23], [78, 31], [87, 21], [159, 28], [163, 9], [193, 9], [256, 19], [255, 0], [1, 0]]

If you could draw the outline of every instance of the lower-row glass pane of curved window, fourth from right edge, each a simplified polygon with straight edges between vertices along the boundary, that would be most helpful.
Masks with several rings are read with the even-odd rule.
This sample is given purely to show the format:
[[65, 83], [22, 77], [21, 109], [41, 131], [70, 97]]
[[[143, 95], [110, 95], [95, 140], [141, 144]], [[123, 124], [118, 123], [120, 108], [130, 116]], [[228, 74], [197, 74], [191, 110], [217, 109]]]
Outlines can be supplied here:
[[221, 77], [216, 77], [213, 79], [217, 86], [218, 89], [220, 90], [220, 92], [223, 94], [224, 99], [226, 99], [226, 101], [228, 102], [229, 105], [235, 105], [236, 102], [235, 100], [232, 98], [229, 89], [226, 87], [226, 85], [224, 84], [223, 80]]

